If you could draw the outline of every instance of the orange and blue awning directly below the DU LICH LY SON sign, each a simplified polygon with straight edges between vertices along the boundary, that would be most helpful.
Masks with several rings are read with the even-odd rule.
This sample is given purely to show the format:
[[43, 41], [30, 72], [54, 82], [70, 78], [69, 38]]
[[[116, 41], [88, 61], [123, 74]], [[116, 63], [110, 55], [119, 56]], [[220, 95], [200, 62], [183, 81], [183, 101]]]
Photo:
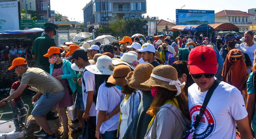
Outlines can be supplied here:
[[171, 29], [174, 30], [183, 30], [186, 26], [192, 26], [196, 29], [196, 31], [198, 32], [202, 32], [202, 31], [214, 31], [214, 28], [212, 28], [210, 25], [175, 25], [173, 26]]

